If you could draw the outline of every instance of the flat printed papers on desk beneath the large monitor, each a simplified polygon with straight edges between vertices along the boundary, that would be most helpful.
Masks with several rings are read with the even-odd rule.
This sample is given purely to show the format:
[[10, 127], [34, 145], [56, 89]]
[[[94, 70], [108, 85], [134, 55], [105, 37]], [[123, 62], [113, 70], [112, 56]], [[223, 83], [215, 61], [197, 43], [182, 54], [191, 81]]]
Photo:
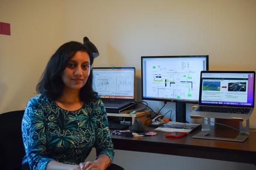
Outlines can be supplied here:
[[155, 129], [155, 131], [161, 132], [191, 132], [200, 124], [193, 124], [193, 123], [181, 123], [181, 122], [167, 122], [162, 126], [159, 126]]

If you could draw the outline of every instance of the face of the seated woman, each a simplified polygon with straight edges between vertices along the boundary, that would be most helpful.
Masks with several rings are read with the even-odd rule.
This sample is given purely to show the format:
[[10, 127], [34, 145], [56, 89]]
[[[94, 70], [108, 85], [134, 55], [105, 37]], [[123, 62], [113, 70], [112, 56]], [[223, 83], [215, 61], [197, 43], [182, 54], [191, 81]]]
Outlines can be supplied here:
[[78, 51], [62, 73], [65, 89], [80, 90], [86, 83], [90, 74], [90, 57], [86, 52]]

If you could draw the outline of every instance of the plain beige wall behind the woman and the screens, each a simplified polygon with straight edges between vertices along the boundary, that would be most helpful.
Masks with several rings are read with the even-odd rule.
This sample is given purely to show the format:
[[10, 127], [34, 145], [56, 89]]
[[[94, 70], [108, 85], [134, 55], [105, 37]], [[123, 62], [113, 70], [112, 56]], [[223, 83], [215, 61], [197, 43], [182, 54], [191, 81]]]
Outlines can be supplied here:
[[255, 71], [255, 9], [255, 0], [1, 0], [11, 36], [0, 35], [0, 113], [24, 109], [54, 50], [84, 36], [100, 50], [94, 66], [136, 67], [138, 99], [143, 55], [209, 55], [210, 70]]

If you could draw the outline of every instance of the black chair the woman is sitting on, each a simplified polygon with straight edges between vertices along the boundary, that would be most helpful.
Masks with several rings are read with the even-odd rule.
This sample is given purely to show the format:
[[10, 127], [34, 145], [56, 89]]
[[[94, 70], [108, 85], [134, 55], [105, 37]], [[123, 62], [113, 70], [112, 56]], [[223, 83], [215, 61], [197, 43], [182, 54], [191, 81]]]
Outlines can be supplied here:
[[[25, 149], [21, 135], [22, 111], [0, 114], [0, 169], [20, 170]], [[121, 166], [111, 164], [108, 170], [123, 170]]]

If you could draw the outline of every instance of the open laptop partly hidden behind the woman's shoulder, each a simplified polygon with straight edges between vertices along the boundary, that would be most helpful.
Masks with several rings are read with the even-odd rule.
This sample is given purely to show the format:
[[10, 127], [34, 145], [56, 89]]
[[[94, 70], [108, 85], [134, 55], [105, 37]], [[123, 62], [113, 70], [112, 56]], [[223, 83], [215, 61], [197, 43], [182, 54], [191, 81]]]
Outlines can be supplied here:
[[134, 105], [135, 67], [92, 68], [93, 90], [98, 92], [108, 113]]

